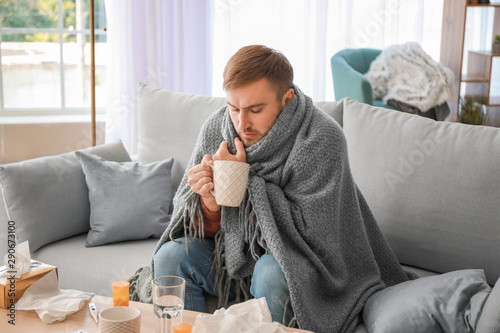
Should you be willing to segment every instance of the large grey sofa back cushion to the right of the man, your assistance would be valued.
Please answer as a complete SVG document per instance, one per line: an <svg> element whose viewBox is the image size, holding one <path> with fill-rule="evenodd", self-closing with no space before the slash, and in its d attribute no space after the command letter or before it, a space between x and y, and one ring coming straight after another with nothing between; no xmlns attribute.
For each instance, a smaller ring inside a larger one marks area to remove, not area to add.
<svg viewBox="0 0 500 333"><path fill-rule="evenodd" d="M500 276L500 129L344 99L353 177L401 263Z"/></svg>

